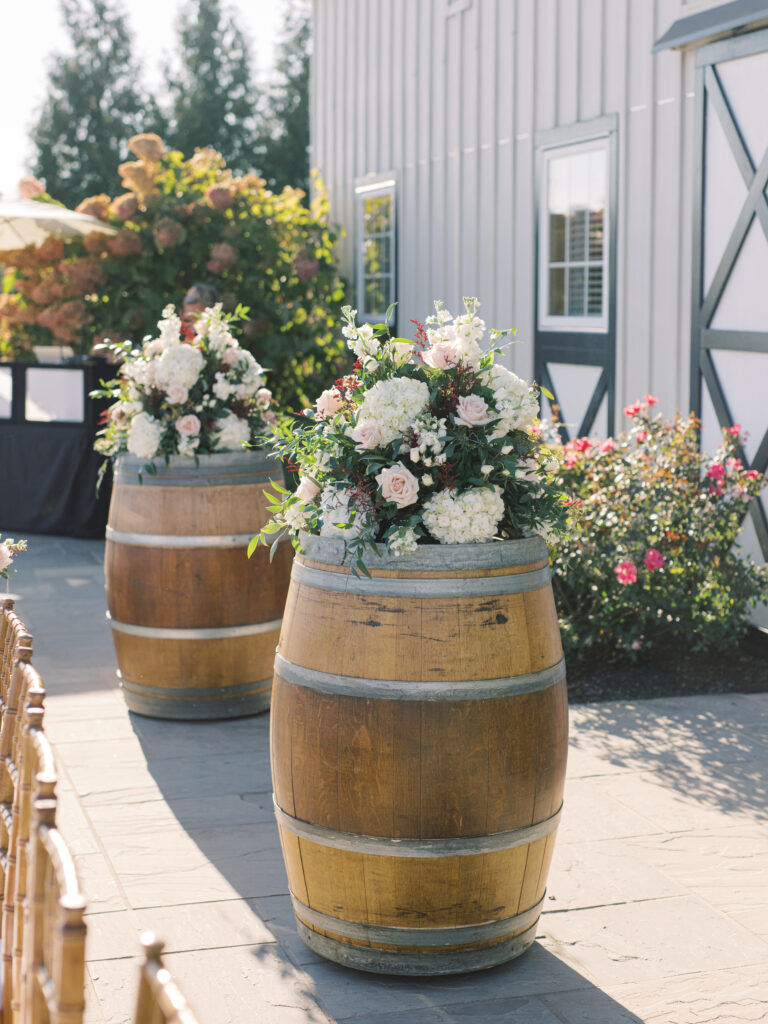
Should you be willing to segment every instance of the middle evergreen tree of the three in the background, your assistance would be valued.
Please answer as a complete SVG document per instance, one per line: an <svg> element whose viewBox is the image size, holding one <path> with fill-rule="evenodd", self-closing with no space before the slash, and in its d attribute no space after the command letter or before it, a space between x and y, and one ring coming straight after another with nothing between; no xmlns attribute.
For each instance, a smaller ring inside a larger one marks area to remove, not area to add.
<svg viewBox="0 0 768 1024"><path fill-rule="evenodd" d="M238 173L253 169L256 92L249 41L221 0L188 0L177 20L179 61L169 73L167 139L191 154L211 146Z"/></svg>

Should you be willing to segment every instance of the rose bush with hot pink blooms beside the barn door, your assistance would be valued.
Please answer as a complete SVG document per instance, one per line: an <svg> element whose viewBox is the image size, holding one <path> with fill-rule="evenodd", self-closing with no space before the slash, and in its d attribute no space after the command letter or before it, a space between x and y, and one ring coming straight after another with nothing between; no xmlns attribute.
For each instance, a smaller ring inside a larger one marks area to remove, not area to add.
<svg viewBox="0 0 768 1024"><path fill-rule="evenodd" d="M656 398L625 409L615 438L564 445L560 483L577 498L577 532L553 549L554 589L571 656L637 659L673 642L729 647L746 611L768 600L765 566L735 542L764 485L741 456L738 424L712 456L695 416L666 421Z"/></svg>

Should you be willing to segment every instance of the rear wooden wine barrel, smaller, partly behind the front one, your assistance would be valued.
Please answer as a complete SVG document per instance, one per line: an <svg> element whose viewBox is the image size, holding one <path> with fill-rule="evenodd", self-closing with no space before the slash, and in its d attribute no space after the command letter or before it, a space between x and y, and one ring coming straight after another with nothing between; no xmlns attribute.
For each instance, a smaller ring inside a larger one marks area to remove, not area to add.
<svg viewBox="0 0 768 1024"><path fill-rule="evenodd" d="M293 551L248 543L283 471L260 452L155 461L122 455L106 526L106 600L131 711L234 718L269 707ZM139 478L140 474L140 478Z"/></svg>

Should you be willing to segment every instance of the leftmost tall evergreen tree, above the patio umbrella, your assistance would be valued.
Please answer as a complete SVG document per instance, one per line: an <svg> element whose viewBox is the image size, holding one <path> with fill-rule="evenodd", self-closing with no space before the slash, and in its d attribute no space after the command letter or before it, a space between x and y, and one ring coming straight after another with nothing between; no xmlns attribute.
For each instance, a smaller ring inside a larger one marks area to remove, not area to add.
<svg viewBox="0 0 768 1024"><path fill-rule="evenodd" d="M121 0L60 0L72 53L56 55L48 97L32 130L33 172L54 199L76 206L120 186L116 167L137 132L163 132L138 66Z"/></svg>

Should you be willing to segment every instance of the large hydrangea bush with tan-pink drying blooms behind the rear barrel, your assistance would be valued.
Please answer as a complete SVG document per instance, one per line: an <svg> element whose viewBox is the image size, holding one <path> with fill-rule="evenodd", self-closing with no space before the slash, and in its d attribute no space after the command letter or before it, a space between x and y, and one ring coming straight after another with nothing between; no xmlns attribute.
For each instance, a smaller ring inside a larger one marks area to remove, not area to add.
<svg viewBox="0 0 768 1024"><path fill-rule="evenodd" d="M117 228L47 239L4 254L0 355L33 344L88 352L103 339L140 338L196 281L218 289L224 311L249 309L243 345L270 371L284 408L301 408L343 353L331 308L343 299L322 185L275 195L255 174L234 175L213 150L188 159L156 135L134 136L121 164L122 196L78 209Z"/></svg>

